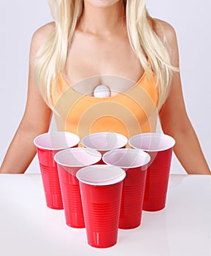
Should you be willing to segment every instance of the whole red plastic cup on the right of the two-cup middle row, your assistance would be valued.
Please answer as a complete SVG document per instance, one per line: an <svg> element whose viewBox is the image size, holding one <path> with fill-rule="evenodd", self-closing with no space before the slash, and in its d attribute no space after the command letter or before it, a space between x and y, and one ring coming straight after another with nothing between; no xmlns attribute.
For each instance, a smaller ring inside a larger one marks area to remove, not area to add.
<svg viewBox="0 0 211 256"><path fill-rule="evenodd" d="M107 165L115 165L126 170L119 228L139 227L142 219L147 164L150 162L150 156L140 149L122 148L105 153L103 161Z"/></svg>

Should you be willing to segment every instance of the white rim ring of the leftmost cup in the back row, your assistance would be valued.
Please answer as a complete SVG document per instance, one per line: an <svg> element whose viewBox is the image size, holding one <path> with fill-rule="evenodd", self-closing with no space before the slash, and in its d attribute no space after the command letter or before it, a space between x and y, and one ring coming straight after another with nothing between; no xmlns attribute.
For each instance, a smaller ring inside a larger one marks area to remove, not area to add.
<svg viewBox="0 0 211 256"><path fill-rule="evenodd" d="M70 143L69 145L66 146L58 146L58 147L46 147L46 146L40 146L38 141L40 138L45 138L49 137L50 135L62 135L64 134L65 136L72 136L74 139L73 143ZM77 144L80 142L80 137L76 135L73 132L61 132L61 131L54 131L54 132L45 132L40 135L38 135L36 138L34 138L34 145L37 146L37 148L40 149L45 149L45 150L50 150L50 151L56 151L56 150L61 150L61 149L66 149L66 148L71 148L74 146L77 146Z"/></svg>

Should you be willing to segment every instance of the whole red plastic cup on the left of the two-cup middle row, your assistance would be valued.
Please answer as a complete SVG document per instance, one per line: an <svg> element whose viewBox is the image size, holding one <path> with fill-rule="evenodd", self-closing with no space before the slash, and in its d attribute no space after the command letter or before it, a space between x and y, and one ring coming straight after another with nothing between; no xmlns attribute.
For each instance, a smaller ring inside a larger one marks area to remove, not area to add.
<svg viewBox="0 0 211 256"><path fill-rule="evenodd" d="M66 225L77 228L85 227L76 173L82 167L99 162L101 154L92 148L69 148L55 154L54 159L58 166Z"/></svg>

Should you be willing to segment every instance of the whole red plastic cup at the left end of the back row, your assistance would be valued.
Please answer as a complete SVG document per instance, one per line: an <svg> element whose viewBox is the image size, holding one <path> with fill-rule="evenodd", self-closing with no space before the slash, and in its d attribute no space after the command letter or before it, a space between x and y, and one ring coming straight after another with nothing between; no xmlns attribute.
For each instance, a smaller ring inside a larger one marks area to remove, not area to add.
<svg viewBox="0 0 211 256"><path fill-rule="evenodd" d="M45 200L49 208L63 209L58 170L53 157L55 153L64 148L77 146L79 141L80 138L71 132L47 132L34 139L34 144L37 146Z"/></svg>

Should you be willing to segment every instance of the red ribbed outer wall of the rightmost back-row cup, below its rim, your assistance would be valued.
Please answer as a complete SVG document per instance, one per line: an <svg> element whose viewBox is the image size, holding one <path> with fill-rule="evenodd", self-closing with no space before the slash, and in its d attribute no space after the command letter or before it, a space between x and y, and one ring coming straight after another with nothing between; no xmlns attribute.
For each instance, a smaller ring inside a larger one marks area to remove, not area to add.
<svg viewBox="0 0 211 256"><path fill-rule="evenodd" d="M166 206L171 159L172 148L153 153L153 161L147 169L143 210L160 211Z"/></svg>

